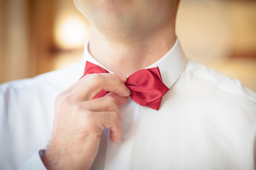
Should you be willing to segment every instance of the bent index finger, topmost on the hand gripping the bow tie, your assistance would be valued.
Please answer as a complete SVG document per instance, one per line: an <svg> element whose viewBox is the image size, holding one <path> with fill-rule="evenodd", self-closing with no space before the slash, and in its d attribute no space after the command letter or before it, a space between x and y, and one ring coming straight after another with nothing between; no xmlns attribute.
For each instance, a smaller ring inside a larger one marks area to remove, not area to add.
<svg viewBox="0 0 256 170"><path fill-rule="evenodd" d="M75 98L91 100L101 90L113 91L119 96L129 96L130 92L124 84L124 79L120 80L117 74L91 74L82 81L74 90Z"/></svg>

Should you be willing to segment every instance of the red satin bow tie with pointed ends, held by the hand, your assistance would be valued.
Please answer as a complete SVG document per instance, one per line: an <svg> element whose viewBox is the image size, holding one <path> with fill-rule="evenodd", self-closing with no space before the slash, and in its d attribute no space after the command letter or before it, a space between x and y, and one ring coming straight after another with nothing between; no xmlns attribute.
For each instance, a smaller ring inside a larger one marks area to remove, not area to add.
<svg viewBox="0 0 256 170"><path fill-rule="evenodd" d="M86 62L85 72L82 77L86 74L94 73L108 73L107 70L102 67ZM153 108L156 111L159 110L161 99L169 88L164 85L159 72L159 67L151 69L142 69L127 78L125 85L131 91L130 97L133 101L141 106ZM100 91L95 98L105 96L107 91Z"/></svg>

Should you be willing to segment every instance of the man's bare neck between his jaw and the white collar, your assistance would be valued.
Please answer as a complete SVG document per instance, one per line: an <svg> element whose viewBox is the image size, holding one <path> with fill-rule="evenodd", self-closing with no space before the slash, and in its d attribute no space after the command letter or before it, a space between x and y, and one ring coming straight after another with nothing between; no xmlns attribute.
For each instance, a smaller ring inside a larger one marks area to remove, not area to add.
<svg viewBox="0 0 256 170"><path fill-rule="evenodd" d="M110 71L129 76L158 61L176 42L175 30L170 28L131 37L109 38L91 26L89 52Z"/></svg>

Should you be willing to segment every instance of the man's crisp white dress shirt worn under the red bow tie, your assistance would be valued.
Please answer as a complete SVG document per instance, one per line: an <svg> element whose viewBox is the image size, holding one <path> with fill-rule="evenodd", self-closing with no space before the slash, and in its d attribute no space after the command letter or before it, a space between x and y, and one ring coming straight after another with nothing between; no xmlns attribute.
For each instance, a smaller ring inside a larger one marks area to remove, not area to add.
<svg viewBox="0 0 256 170"><path fill-rule="evenodd" d="M104 67L87 46L84 55ZM106 129L91 169L255 169L255 92L186 60L178 40L150 67L170 88L159 111L129 98L121 108L124 142L112 143ZM46 169L38 150L50 139L55 96L84 68L85 61L0 86L0 169Z"/></svg>

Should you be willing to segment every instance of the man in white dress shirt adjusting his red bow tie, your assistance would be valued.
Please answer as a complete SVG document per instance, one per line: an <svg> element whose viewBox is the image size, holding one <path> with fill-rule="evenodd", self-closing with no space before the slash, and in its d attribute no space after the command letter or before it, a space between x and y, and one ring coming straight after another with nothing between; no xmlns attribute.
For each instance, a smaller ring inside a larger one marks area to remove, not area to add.
<svg viewBox="0 0 256 170"><path fill-rule="evenodd" d="M91 23L85 75L76 64L1 86L3 167L36 152L21 169L255 169L256 95L186 60L178 3L75 0Z"/></svg>

